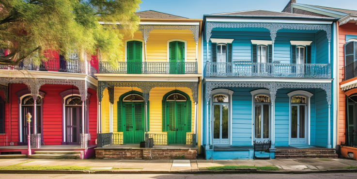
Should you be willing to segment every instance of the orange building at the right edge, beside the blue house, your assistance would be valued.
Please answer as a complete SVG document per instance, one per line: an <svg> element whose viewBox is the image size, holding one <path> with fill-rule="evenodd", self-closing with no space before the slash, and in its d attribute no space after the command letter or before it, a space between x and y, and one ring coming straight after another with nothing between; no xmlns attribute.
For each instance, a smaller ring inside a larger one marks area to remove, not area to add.
<svg viewBox="0 0 357 179"><path fill-rule="evenodd" d="M336 26L338 40L335 47L337 152L345 158L357 159L356 61L357 11L296 3L291 0L282 12L320 17L339 18Z"/></svg>

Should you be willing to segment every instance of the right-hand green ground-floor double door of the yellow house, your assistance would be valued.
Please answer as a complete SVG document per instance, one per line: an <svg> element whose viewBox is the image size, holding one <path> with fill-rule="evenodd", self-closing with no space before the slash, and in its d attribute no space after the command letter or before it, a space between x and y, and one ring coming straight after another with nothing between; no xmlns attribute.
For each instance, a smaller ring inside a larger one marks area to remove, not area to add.
<svg viewBox="0 0 357 179"><path fill-rule="evenodd" d="M186 144L186 102L168 101L168 144Z"/></svg>

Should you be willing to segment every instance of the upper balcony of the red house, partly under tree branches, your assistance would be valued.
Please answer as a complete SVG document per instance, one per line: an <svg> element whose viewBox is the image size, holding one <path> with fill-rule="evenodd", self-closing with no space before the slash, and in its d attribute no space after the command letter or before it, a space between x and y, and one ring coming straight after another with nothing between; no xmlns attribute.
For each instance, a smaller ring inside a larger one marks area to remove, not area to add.
<svg viewBox="0 0 357 179"><path fill-rule="evenodd" d="M97 70L90 65L88 66L88 75L94 76ZM42 62L41 65L35 65L31 59L25 59L17 66L0 65L0 69L17 69L17 70L31 70L31 71L55 71L55 72L67 72L67 73L86 73L86 64L78 59L66 60L63 58L51 58L47 62Z"/></svg>

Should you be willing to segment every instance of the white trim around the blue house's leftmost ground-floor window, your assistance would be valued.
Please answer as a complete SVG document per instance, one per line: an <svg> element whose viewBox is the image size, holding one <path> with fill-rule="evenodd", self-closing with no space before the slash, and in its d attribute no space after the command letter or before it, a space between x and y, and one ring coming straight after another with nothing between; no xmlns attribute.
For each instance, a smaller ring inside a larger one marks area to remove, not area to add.
<svg viewBox="0 0 357 179"><path fill-rule="evenodd" d="M211 96L210 96L210 98L211 99L213 99L212 97L214 96L214 95L217 95L217 94L224 94L224 95L228 95L228 98L229 98L229 102L228 102L228 104L229 104L229 117L228 117L228 120L229 120L229 126L228 126L228 134L229 134L229 136L228 136L228 140L229 140L229 142L228 142L228 144L229 145L232 145L232 121L233 121L233 119L232 119L232 95L233 95L233 93L234 93L234 91L232 91L232 90L229 90L229 89L224 89L224 88L219 88L219 89L214 89L214 90L212 90L211 91ZM213 125L213 123L212 123L212 118L213 118L213 108L212 108L212 106L213 106L213 100L210 100L211 101L211 110L210 110L210 125L211 125L211 132L210 132L210 144L213 144L213 137L212 137L212 131L213 131L213 127L212 127L212 125ZM208 117L208 116L207 116ZM222 145L226 145L226 144L222 144ZM217 145L217 146L219 146L219 145Z"/></svg>

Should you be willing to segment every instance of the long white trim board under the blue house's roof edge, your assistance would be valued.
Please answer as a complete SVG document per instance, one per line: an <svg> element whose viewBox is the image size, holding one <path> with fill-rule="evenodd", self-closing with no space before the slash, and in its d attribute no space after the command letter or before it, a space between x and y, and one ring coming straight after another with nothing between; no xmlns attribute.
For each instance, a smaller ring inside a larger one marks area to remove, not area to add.
<svg viewBox="0 0 357 179"><path fill-rule="evenodd" d="M272 17L273 18L273 17ZM244 18L244 17L235 17L235 18L228 18L228 17L207 17L207 22L262 22L262 23L291 23L291 24L332 24L331 21L321 21L316 17L316 20L295 20L295 19L268 19L268 18Z"/></svg>

